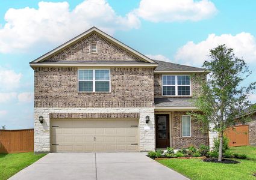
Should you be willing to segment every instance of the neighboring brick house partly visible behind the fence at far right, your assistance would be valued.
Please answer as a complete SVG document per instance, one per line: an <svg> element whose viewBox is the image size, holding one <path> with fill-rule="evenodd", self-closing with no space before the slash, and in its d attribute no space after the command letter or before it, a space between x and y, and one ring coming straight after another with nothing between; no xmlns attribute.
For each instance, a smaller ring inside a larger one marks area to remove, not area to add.
<svg viewBox="0 0 256 180"><path fill-rule="evenodd" d="M243 115L249 116L249 122L241 122L241 119L237 119L238 123L247 124L249 127L249 143L256 145L256 104L247 107L243 110Z"/></svg>

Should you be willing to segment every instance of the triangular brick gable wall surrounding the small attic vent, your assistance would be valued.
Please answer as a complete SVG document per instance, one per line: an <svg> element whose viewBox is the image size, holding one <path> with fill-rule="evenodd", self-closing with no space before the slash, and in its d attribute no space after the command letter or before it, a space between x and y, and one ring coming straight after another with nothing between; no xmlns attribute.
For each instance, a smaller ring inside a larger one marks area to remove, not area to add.
<svg viewBox="0 0 256 180"><path fill-rule="evenodd" d="M90 44L97 43L97 53L90 52ZM47 61L130 61L145 62L128 50L110 42L95 32L82 38L72 46L56 53L45 60Z"/></svg>

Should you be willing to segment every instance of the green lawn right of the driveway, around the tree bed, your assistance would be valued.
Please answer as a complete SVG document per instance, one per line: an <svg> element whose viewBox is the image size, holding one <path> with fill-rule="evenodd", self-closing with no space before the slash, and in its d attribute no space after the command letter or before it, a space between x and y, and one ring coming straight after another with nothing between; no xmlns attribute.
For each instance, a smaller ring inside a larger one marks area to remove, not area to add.
<svg viewBox="0 0 256 180"><path fill-rule="evenodd" d="M247 154L252 160L237 160L239 164L206 163L199 159L158 160L159 163L180 172L190 179L254 179L256 173L256 147L231 148L231 152Z"/></svg>

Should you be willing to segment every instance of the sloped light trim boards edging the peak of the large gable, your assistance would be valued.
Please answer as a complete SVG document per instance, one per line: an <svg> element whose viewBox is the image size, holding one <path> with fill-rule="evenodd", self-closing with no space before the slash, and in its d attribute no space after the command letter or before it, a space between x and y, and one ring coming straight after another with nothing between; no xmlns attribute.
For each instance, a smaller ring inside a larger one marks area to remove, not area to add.
<svg viewBox="0 0 256 180"><path fill-rule="evenodd" d="M80 40L81 38L85 37L86 35L89 35L92 32L97 32L99 35L102 35L105 38L108 38L108 40L112 41L113 43L118 44L119 46L122 46L123 48L125 48L126 50L129 50L131 53L133 53L136 56L139 56L140 58L144 59L147 62L151 62L154 63L154 61L152 61L151 59L149 59L147 56L142 55L141 53L137 52L136 50L132 49L129 46L126 46L125 44L121 43L120 41L116 40L115 38L111 37L110 35L106 34L105 32L99 30L96 27L92 27L89 30L83 32L82 34L76 36L75 38L73 38L72 40L67 41L66 43L62 44L61 46L56 47L55 49L51 50L50 52L46 53L45 55L40 56L39 58L35 59L32 62L39 62L39 61L43 61L46 58L48 58L49 56L53 55L54 53L59 52L60 50L62 50L64 47L69 46L70 44L75 43L76 41Z"/></svg>

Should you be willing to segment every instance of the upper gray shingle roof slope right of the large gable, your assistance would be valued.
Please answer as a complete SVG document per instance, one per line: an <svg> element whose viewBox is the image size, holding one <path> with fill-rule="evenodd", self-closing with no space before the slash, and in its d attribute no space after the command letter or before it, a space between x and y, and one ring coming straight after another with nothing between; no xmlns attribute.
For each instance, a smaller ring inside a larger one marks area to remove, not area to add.
<svg viewBox="0 0 256 180"><path fill-rule="evenodd" d="M157 62L158 66L155 68L155 70L204 70L203 68L198 68L198 67L191 67L188 65L181 65L181 64L175 64L172 62L166 62L166 61L158 61L154 60L153 61Z"/></svg>

